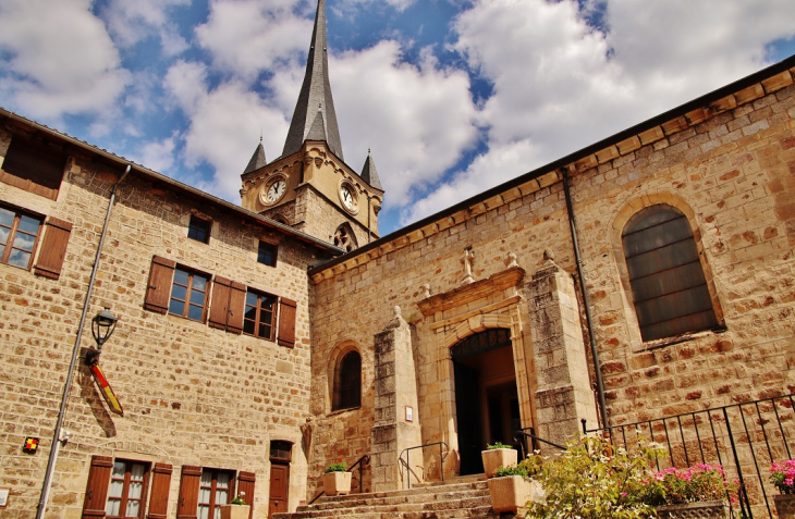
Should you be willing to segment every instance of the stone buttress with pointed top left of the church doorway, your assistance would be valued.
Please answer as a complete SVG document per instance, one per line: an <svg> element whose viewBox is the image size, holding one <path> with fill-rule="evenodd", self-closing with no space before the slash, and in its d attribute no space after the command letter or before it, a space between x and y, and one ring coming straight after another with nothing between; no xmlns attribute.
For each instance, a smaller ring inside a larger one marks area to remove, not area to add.
<svg viewBox="0 0 795 519"><path fill-rule="evenodd" d="M412 353L412 332L395 307L394 319L375 336L376 339L376 408L370 432L370 467L372 491L382 492L404 486L397 457L404 448L423 444L417 405L417 379ZM411 408L411 419L406 409ZM412 452L412 466L421 465L421 450ZM423 471L412 475L421 479ZM403 479L406 470L403 468Z"/></svg>

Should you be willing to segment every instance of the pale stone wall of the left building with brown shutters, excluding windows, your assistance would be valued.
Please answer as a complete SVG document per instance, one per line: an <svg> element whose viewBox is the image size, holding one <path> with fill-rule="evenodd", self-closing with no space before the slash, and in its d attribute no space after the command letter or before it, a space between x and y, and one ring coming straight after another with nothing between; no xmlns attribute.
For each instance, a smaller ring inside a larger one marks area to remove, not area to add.
<svg viewBox="0 0 795 519"><path fill-rule="evenodd" d="M0 150L9 137L0 131ZM0 184L3 201L74 225L59 280L0 265L0 487L12 489L2 512L8 518L35 515L109 193L121 173L88 153L73 153L57 201ZM207 245L187 238L193 213L213 221ZM299 425L310 400L306 268L318 257L294 238L242 220L136 173L121 185L88 318L103 306L120 318L101 366L125 413L108 412L81 362L64 422L71 438L56 468L48 517L80 517L90 457L103 455L173 465L170 517L182 465L255 472L255 517L264 518L271 440L294 442L291 506L304 498ZM260 237L279 242L276 268L256 261ZM155 255L296 300L295 348L145 310ZM81 355L94 346L89 330L81 346ZM36 455L22 453L26 436L41 438Z"/></svg>

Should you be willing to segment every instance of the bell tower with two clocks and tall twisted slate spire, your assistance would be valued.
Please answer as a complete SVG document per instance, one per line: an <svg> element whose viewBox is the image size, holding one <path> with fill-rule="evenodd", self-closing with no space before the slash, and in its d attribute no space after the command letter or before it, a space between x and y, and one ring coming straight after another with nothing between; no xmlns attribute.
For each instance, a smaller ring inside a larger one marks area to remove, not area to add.
<svg viewBox="0 0 795 519"><path fill-rule="evenodd" d="M241 176L242 205L348 251L377 239L383 187L368 152L360 172L342 153L329 81L326 1L315 28L281 157L268 163L261 139Z"/></svg>

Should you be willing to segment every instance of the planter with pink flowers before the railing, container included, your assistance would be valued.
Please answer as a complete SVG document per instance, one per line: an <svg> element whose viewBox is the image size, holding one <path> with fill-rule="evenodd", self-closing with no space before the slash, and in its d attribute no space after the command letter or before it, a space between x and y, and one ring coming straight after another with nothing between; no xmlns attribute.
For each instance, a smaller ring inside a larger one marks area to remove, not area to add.
<svg viewBox="0 0 795 519"><path fill-rule="evenodd" d="M720 465L696 465L686 469L675 467L655 472L646 481L644 502L655 506L658 517L730 517L729 499L737 490L726 481Z"/></svg>

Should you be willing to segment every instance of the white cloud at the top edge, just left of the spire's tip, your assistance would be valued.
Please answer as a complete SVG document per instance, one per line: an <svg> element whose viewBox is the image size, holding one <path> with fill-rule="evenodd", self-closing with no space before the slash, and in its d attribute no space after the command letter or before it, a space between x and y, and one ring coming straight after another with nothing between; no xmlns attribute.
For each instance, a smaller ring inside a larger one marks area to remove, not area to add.
<svg viewBox="0 0 795 519"><path fill-rule="evenodd" d="M294 13L298 1L213 0L196 37L215 66L250 79L308 51L313 22Z"/></svg>

